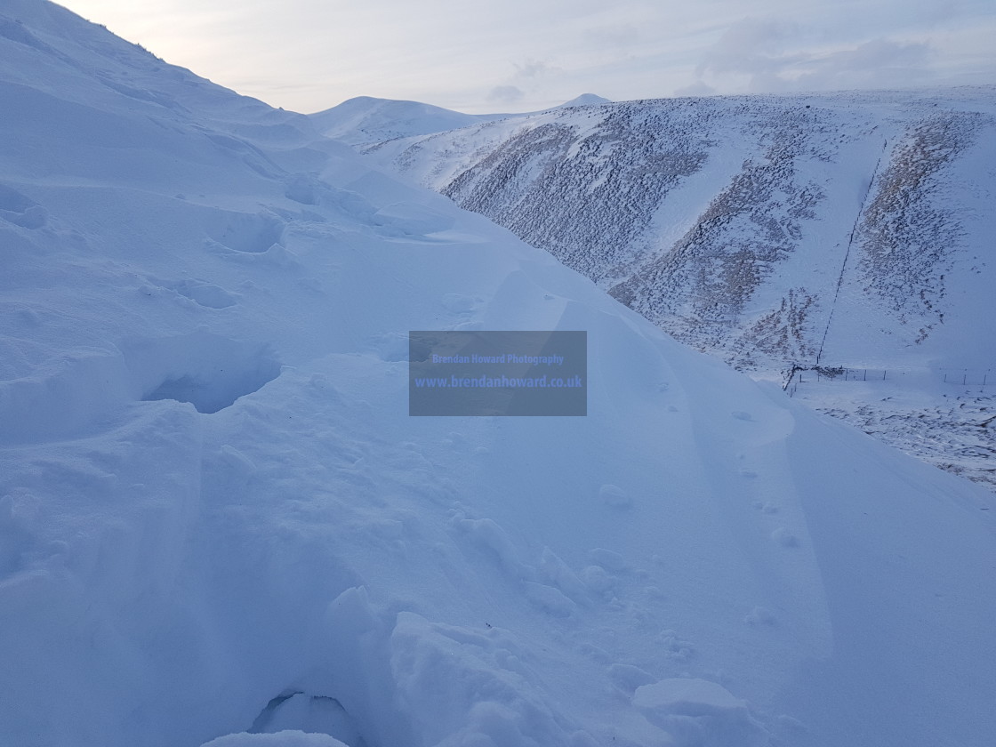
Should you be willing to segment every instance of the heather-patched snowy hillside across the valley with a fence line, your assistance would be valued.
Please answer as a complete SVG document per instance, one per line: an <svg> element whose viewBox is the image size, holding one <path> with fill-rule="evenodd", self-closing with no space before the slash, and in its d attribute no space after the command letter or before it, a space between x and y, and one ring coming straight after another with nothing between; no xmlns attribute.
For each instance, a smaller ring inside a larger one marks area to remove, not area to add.
<svg viewBox="0 0 996 747"><path fill-rule="evenodd" d="M996 485L984 426L981 448L953 431L924 450L872 424L876 402L922 393L913 379L928 401L890 417L970 429L992 406L996 89L609 104L367 150L738 369L884 372L867 399L798 395ZM940 386L955 369L977 385Z"/></svg>

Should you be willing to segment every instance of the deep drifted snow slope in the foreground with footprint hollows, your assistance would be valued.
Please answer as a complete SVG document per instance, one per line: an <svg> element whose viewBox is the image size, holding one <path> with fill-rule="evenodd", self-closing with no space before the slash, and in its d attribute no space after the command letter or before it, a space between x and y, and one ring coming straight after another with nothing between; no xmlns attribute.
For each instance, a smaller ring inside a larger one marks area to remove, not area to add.
<svg viewBox="0 0 996 747"><path fill-rule="evenodd" d="M51 3L0 113L0 744L991 744L988 492ZM588 416L408 417L431 329Z"/></svg>

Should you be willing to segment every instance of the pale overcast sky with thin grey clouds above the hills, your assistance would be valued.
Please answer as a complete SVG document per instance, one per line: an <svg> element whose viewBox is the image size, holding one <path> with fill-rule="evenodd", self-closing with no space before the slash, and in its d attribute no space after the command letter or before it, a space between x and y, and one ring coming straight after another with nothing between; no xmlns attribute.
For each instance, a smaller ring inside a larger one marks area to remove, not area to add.
<svg viewBox="0 0 996 747"><path fill-rule="evenodd" d="M167 62L310 114L355 96L475 114L996 83L996 0L64 0Z"/></svg>

